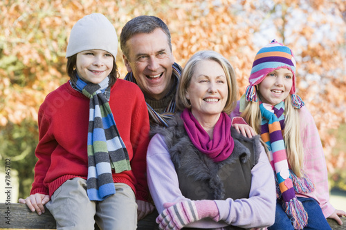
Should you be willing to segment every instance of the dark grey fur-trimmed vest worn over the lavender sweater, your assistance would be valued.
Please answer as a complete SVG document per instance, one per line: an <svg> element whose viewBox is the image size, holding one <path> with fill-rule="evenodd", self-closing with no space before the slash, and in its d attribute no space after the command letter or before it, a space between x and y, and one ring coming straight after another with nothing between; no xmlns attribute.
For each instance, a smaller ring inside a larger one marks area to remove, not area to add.
<svg viewBox="0 0 346 230"><path fill-rule="evenodd" d="M168 128L156 128L170 151L179 179L179 189L191 200L233 200L248 198L251 189L251 169L260 157L260 136L247 138L231 128L235 147L222 162L214 162L190 141L180 114ZM225 229L242 229L229 226ZM204 229L206 230L206 229Z"/></svg>

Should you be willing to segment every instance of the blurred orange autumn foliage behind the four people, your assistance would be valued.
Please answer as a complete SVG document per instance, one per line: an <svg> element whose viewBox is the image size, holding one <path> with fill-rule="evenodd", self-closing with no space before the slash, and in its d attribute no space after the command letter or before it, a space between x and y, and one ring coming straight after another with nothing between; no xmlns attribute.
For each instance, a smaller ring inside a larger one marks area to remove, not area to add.
<svg viewBox="0 0 346 230"><path fill-rule="evenodd" d="M0 160L10 157L18 171L19 197L29 194L33 181L39 105L69 79L69 33L93 12L106 15L118 36L133 17L160 17L170 28L176 62L184 66L199 50L220 52L235 67L241 94L259 48L271 39L289 46L330 184L346 190L345 0L1 0L0 12ZM120 46L116 59L125 77Z"/></svg>

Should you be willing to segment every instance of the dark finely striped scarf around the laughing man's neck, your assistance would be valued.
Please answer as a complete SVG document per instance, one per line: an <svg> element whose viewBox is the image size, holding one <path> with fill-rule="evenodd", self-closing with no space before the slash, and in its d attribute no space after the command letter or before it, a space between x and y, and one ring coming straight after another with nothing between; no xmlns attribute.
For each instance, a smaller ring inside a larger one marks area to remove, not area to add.
<svg viewBox="0 0 346 230"><path fill-rule="evenodd" d="M172 76L176 77L176 82L177 82L176 88L178 88L180 77L181 77L181 66L179 66L178 64L174 62L174 64L172 65L172 68L173 68ZM132 74L132 72L127 73L127 75L125 76L125 80L129 82L134 82L134 84L137 84L136 79L134 78L134 75ZM156 111L154 111L154 108L152 108L152 106L150 106L148 103L147 103L147 108L148 108L149 116L152 117L154 122L160 126L165 126L165 127L168 127L167 121L169 119L172 119L174 117L174 114L177 111L175 97L171 99L170 103L167 105L163 113L157 113Z"/></svg>

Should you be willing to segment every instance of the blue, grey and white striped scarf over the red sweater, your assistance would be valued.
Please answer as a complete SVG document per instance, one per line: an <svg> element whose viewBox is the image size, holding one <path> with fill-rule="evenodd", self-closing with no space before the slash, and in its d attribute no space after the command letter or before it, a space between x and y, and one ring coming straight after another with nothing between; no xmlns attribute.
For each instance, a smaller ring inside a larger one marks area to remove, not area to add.
<svg viewBox="0 0 346 230"><path fill-rule="evenodd" d="M87 193L90 200L104 200L116 193L111 169L116 173L131 170L129 155L109 106L109 77L100 84L86 84L75 76L77 82L71 81L73 88L90 98Z"/></svg>

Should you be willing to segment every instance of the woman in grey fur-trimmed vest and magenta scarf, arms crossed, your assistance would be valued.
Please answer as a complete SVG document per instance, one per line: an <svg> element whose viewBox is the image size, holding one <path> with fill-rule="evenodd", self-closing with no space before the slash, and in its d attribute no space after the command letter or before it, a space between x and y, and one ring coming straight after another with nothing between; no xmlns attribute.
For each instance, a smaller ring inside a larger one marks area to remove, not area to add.
<svg viewBox="0 0 346 230"><path fill-rule="evenodd" d="M275 183L259 137L231 128L235 71L222 55L197 52L181 76L183 111L156 128L147 177L160 229L242 229L273 224ZM203 219L203 220L202 220Z"/></svg>

